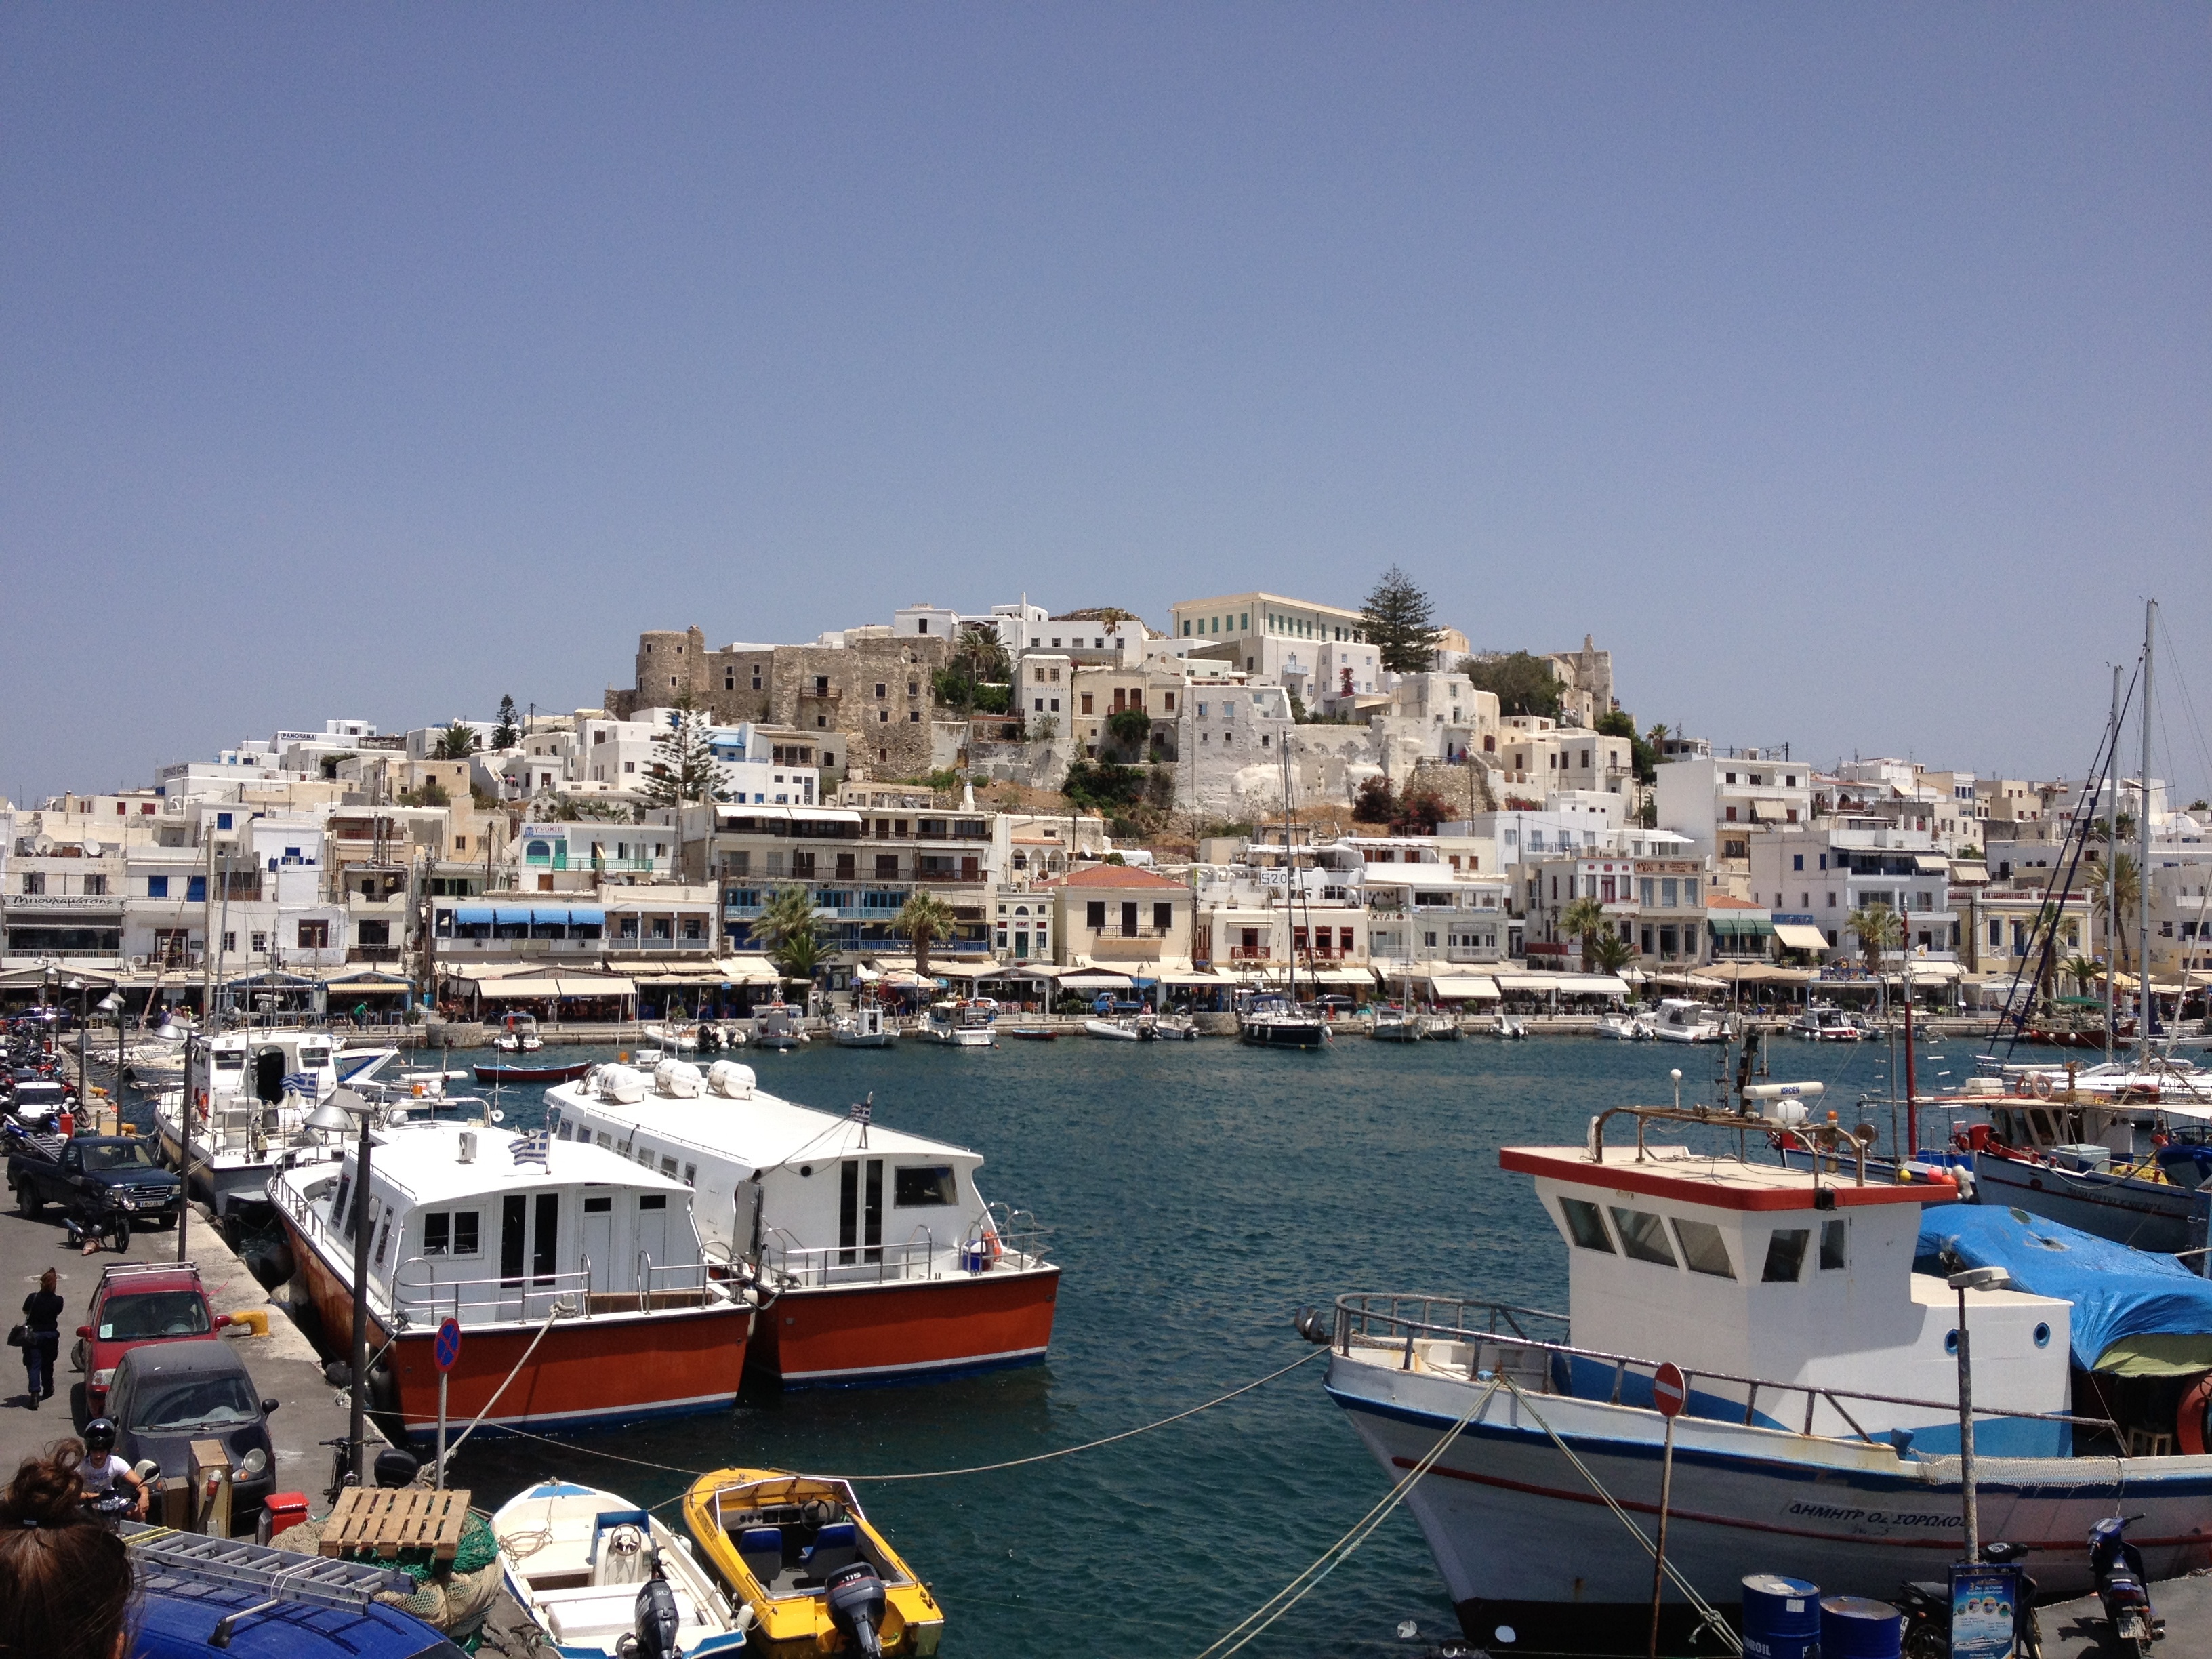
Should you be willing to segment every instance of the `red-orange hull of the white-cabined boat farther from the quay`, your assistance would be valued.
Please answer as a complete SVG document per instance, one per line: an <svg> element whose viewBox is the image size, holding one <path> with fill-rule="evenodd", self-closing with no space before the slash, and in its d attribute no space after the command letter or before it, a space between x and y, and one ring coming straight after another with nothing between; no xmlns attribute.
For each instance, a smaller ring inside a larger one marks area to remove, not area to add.
<svg viewBox="0 0 2212 1659"><path fill-rule="evenodd" d="M783 1383L874 1383L1042 1354L1060 1270L911 1285L787 1290L761 1312L752 1358Z"/></svg>

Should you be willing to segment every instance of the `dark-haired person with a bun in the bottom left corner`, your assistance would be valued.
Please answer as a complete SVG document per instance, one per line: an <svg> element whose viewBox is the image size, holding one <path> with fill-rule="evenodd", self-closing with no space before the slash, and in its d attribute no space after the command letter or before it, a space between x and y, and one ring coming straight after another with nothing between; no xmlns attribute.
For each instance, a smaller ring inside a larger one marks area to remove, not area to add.
<svg viewBox="0 0 2212 1659"><path fill-rule="evenodd" d="M84 1447L24 1458L0 1495L0 1655L122 1659L131 1641L131 1562L113 1528L84 1513Z"/></svg>

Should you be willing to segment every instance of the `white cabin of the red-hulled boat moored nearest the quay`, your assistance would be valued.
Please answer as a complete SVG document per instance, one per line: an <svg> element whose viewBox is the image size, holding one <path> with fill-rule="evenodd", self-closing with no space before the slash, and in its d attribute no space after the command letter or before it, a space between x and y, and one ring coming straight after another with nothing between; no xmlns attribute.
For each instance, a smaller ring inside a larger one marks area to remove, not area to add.
<svg viewBox="0 0 2212 1659"><path fill-rule="evenodd" d="M376 1133L365 1210L354 1168L347 1148L290 1179L347 1272L354 1228L372 1228L369 1305L409 1323L542 1321L584 1292L588 1312L661 1307L703 1287L690 1188L597 1146L400 1124Z"/></svg>

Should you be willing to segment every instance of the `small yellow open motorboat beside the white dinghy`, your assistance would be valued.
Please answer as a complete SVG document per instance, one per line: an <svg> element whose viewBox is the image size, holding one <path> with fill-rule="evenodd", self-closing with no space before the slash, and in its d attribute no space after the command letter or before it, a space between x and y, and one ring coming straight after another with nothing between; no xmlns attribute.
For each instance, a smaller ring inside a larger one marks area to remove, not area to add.
<svg viewBox="0 0 2212 1659"><path fill-rule="evenodd" d="M752 1608L745 1652L933 1655L945 1608L869 1526L843 1480L717 1469L684 1495L684 1524Z"/></svg>

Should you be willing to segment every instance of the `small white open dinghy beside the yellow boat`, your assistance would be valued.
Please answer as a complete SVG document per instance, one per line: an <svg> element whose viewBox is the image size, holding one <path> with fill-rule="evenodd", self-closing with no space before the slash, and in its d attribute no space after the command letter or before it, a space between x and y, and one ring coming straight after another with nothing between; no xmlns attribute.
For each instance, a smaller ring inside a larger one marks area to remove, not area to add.
<svg viewBox="0 0 2212 1659"><path fill-rule="evenodd" d="M688 1540L626 1498L540 1480L500 1506L491 1533L507 1593L562 1659L613 1659L650 1617L655 1579L675 1601L675 1639L686 1659L745 1648L752 1610L732 1613Z"/></svg>

